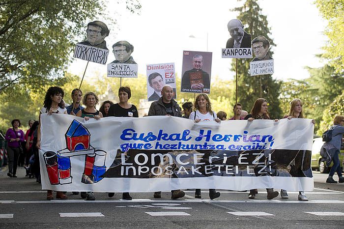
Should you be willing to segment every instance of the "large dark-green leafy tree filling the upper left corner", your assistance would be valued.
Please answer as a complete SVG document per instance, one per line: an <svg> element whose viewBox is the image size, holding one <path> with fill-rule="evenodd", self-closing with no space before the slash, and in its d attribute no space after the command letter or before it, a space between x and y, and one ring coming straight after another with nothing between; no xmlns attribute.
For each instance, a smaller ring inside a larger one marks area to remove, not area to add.
<svg viewBox="0 0 344 229"><path fill-rule="evenodd" d="M0 93L63 77L86 20L107 20L105 5L104 0L1 0ZM126 5L131 11L141 7L137 0Z"/></svg>

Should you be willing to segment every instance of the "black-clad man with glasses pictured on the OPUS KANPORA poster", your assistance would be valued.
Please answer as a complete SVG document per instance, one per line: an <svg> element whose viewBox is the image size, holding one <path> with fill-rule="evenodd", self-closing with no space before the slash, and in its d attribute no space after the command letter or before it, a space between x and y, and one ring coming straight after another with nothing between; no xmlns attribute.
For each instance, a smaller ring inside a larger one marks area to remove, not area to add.
<svg viewBox="0 0 344 229"><path fill-rule="evenodd" d="M192 63L194 68L186 71L181 79L181 91L209 93L209 74L201 69L203 66L203 57L201 55L195 55L192 58Z"/></svg>

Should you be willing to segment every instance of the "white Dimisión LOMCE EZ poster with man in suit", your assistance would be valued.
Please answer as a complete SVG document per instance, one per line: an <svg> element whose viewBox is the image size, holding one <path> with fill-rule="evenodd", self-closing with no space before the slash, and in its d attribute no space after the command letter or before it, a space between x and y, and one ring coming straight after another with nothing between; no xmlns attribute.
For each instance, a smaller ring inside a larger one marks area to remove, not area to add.
<svg viewBox="0 0 344 229"><path fill-rule="evenodd" d="M161 90L169 85L173 88L172 99L177 98L174 63L147 64L147 99L156 101L161 97Z"/></svg>

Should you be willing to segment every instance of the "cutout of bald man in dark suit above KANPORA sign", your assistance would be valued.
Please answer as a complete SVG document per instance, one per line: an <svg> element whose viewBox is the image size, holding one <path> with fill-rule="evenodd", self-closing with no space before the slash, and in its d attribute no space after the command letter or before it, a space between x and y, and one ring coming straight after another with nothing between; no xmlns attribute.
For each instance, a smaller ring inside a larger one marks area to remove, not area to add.
<svg viewBox="0 0 344 229"><path fill-rule="evenodd" d="M230 20L227 27L231 38L227 41L226 48L251 48L251 35L244 31L240 20Z"/></svg>

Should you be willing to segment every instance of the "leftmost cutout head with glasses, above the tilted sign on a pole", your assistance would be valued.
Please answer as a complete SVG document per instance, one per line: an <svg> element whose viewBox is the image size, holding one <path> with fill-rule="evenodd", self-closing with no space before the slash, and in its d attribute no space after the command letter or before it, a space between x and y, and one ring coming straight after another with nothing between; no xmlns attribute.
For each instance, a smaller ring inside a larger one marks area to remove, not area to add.
<svg viewBox="0 0 344 229"><path fill-rule="evenodd" d="M94 21L87 24L87 40L78 44L92 46L100 49L106 49L106 41L104 40L110 33L105 23Z"/></svg>

